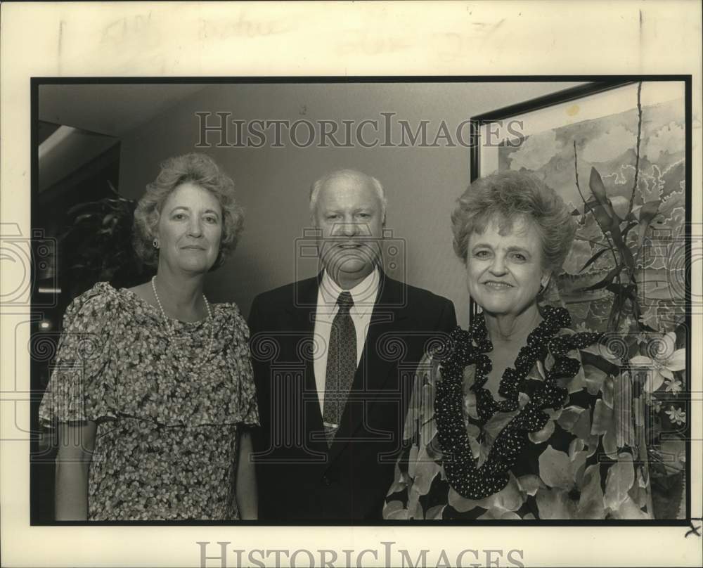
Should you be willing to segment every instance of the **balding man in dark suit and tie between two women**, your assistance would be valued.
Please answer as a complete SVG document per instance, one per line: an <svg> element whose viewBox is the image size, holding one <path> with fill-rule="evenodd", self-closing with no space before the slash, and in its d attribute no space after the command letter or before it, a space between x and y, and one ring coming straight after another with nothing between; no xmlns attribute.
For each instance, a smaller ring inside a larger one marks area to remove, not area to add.
<svg viewBox="0 0 703 568"><path fill-rule="evenodd" d="M323 270L254 299L259 519L381 519L413 373L456 326L453 304L380 267L385 197L341 170L310 195Z"/></svg>

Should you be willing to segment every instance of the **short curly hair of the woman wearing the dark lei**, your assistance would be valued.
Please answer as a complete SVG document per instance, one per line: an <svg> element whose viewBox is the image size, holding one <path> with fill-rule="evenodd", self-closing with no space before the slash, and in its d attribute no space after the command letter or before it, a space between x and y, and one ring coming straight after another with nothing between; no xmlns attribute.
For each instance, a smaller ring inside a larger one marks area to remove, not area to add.
<svg viewBox="0 0 703 568"><path fill-rule="evenodd" d="M483 233L491 219L509 231L519 217L531 220L541 236L543 269L560 269L574 242L576 221L564 200L527 172L496 172L471 183L451 214L454 252L466 262L471 233Z"/></svg>

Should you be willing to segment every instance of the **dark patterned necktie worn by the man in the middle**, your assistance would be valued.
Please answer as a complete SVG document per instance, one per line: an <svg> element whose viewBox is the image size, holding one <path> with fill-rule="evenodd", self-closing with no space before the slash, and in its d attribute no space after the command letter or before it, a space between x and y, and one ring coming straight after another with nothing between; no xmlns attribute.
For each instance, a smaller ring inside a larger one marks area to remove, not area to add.
<svg viewBox="0 0 703 568"><path fill-rule="evenodd" d="M337 298L337 305L340 310L337 311L330 330L322 413L329 446L332 445L335 432L340 427L344 405L347 404L349 389L352 388L356 374L356 328L349 314L349 309L354 305L352 295L342 292Z"/></svg>

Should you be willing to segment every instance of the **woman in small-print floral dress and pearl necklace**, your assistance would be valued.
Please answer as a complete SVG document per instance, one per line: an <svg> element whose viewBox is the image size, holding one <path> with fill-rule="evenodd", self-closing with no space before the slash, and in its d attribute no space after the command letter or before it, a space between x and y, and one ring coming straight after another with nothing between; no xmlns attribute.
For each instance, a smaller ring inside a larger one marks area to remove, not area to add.
<svg viewBox="0 0 703 568"><path fill-rule="evenodd" d="M156 276L67 309L39 410L59 430L56 519L257 517L249 331L202 293L242 228L233 189L205 155L167 160L135 212Z"/></svg>

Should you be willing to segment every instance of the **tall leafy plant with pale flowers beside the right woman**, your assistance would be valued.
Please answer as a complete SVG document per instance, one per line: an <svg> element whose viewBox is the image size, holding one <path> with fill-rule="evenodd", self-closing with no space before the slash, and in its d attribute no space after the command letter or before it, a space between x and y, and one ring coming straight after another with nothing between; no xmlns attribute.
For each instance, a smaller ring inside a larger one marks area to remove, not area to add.
<svg viewBox="0 0 703 568"><path fill-rule="evenodd" d="M596 262L602 265L602 257L612 257L612 265L605 276L598 282L580 288L579 292L607 290L612 292L612 306L607 318L607 329L614 332L611 344L617 344L617 361L623 376L634 379L633 402L647 410L647 432L644 438L648 444L650 475L653 478L671 479L675 476L683 483L683 462L685 460L684 440L687 430L686 420L688 389L686 388L685 370L685 334L683 324L679 324L669 333L658 330L645 323L641 300L643 291L638 281L645 270L643 247L647 231L660 214L662 200L654 199L634 205L638 190L640 138L642 134L642 84L637 89L638 128L635 154L634 183L629 200L621 195L611 197L603 182L600 172L591 168L588 188L591 195L581 191L578 170L578 155L574 141L574 170L576 188L583 201L583 212L578 209L574 215L579 218L579 225L586 226L595 220L600 230L600 238L582 238L595 251L583 264L581 273ZM632 233L636 231L636 233ZM635 236L636 235L636 236ZM652 320L648 320L652 322ZM643 418L640 418L645 422ZM645 427L641 425L639 427ZM653 483L654 505L657 517L675 517L676 508L661 510L664 499L657 499L657 486L669 487L672 482ZM681 489L681 488L679 488ZM675 492L676 493L676 492ZM681 495L681 491L678 491Z"/></svg>

